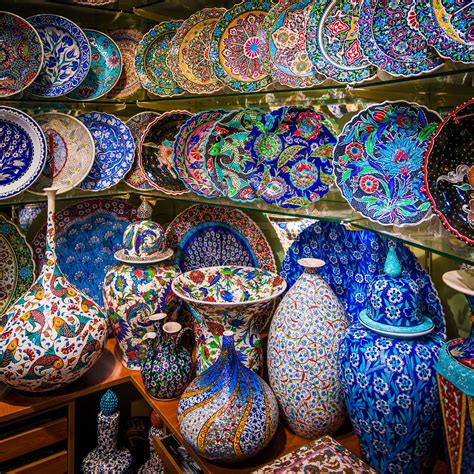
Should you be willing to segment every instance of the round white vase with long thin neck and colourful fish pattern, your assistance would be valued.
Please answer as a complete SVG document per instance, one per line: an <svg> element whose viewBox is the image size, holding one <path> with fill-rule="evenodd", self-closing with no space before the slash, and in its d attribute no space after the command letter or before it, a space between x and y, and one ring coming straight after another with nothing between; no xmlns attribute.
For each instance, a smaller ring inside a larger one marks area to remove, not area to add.
<svg viewBox="0 0 474 474"><path fill-rule="evenodd" d="M74 382L99 359L107 337L100 307L64 277L54 241L54 200L48 196L46 262L31 288L10 308L0 339L0 381L43 392Z"/></svg>

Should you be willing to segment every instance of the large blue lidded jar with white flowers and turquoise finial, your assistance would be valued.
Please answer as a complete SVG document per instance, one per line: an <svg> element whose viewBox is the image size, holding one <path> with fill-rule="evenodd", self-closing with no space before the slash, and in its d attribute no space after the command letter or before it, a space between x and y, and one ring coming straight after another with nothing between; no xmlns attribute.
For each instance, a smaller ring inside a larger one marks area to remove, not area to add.
<svg viewBox="0 0 474 474"><path fill-rule="evenodd" d="M424 472L440 428L434 367L444 336L424 315L418 285L403 275L393 247L367 301L339 353L349 416L374 469Z"/></svg>

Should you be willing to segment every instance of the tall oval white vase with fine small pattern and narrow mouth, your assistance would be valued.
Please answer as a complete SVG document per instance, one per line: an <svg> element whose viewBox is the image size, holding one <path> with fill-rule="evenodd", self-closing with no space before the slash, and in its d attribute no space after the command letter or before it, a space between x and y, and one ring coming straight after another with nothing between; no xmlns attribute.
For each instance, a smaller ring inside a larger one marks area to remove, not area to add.
<svg viewBox="0 0 474 474"><path fill-rule="evenodd" d="M268 376L290 429L305 438L335 432L346 410L338 369L347 327L344 309L318 275L322 260L303 258L304 272L278 306L268 334Z"/></svg>

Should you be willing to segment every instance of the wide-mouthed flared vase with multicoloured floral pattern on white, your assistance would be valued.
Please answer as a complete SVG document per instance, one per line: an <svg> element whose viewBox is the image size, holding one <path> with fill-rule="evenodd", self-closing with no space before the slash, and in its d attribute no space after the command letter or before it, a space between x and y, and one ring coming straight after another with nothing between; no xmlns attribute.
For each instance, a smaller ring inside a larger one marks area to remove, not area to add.
<svg viewBox="0 0 474 474"><path fill-rule="evenodd" d="M283 278L261 268L207 267L178 275L172 289L194 317L198 374L219 357L225 330L234 333L240 360L255 372L261 371L262 341L254 318L268 314L273 300L286 289Z"/></svg>

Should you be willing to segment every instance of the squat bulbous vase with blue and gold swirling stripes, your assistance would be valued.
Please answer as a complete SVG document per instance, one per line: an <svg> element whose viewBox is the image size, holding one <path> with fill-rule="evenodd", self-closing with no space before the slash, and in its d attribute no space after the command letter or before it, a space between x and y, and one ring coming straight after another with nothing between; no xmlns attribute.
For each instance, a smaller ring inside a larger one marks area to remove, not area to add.
<svg viewBox="0 0 474 474"><path fill-rule="evenodd" d="M215 461L236 462L254 456L275 434L275 395L239 360L231 331L224 331L214 365L181 396L178 423L186 443L200 456Z"/></svg>

